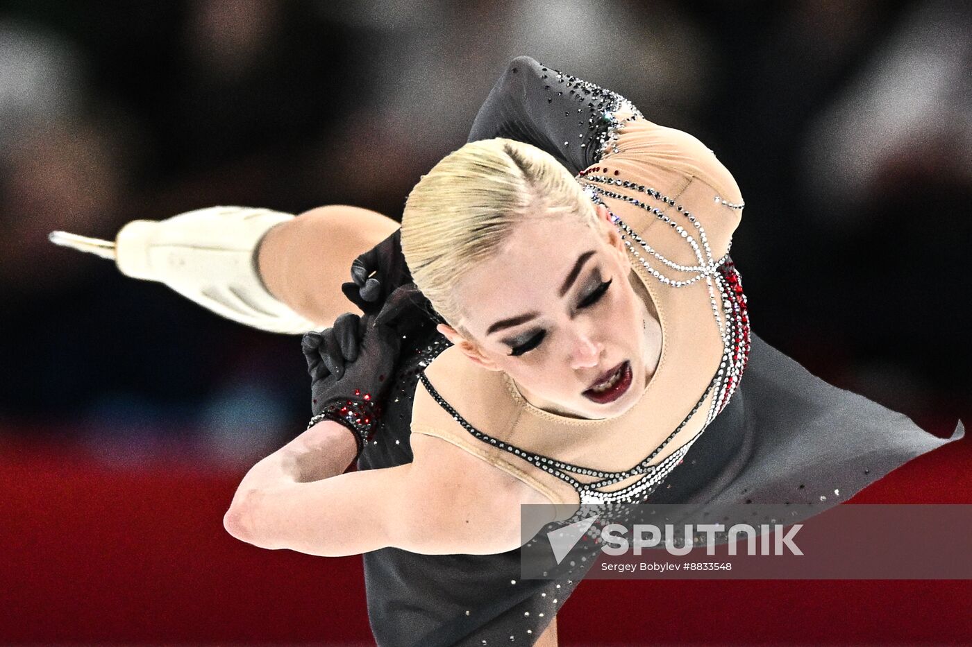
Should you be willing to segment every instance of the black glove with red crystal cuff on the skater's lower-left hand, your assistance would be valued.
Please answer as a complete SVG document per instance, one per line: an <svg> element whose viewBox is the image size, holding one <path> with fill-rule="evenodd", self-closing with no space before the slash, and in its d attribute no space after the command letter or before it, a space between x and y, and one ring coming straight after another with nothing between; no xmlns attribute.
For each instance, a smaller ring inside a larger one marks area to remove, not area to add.
<svg viewBox="0 0 972 647"><path fill-rule="evenodd" d="M307 428L325 419L347 426L360 455L393 382L398 331L375 316L344 313L332 327L304 334L300 346L311 377L314 417Z"/></svg>

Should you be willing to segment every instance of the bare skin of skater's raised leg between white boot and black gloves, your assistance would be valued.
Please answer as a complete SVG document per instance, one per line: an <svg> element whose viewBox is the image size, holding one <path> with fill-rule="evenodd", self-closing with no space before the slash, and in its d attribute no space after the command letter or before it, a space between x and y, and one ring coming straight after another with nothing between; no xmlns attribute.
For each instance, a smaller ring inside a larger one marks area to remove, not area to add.
<svg viewBox="0 0 972 647"><path fill-rule="evenodd" d="M357 312L341 284L352 261L385 240L399 223L347 205L320 207L271 228L257 258L263 284L277 299L321 327Z"/></svg>

